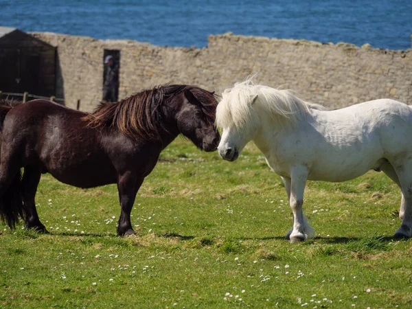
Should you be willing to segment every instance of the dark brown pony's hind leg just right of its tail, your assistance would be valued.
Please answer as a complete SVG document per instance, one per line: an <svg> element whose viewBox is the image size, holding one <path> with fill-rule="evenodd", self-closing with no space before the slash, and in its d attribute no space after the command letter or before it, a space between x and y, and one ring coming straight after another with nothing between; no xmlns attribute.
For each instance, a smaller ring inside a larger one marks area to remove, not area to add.
<svg viewBox="0 0 412 309"><path fill-rule="evenodd" d="M36 202L34 197L36 196L38 182L40 181L41 172L27 167L23 173L23 208L25 211L25 227L27 229L34 229L42 233L49 233L45 226L38 218L36 210Z"/></svg>

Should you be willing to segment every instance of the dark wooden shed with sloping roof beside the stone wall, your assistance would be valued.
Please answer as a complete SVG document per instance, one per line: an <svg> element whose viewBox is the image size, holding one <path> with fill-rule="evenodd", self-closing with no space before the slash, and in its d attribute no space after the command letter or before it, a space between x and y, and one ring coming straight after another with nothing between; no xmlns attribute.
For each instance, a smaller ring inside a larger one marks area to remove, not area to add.
<svg viewBox="0 0 412 309"><path fill-rule="evenodd" d="M11 27L0 27L0 91L56 95L56 47Z"/></svg>

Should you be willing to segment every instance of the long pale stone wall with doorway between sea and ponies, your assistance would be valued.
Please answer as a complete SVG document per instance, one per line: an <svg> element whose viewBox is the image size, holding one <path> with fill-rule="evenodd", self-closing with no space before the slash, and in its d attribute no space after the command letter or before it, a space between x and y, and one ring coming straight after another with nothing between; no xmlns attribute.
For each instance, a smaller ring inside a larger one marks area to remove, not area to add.
<svg viewBox="0 0 412 309"><path fill-rule="evenodd" d="M119 98L172 82L220 94L258 73L255 82L293 89L309 102L339 108L393 98L412 104L412 52L310 41L222 34L203 49L159 47L137 41L101 41L39 32L58 47L58 94L69 107L93 110L102 100L104 49L120 50Z"/></svg>

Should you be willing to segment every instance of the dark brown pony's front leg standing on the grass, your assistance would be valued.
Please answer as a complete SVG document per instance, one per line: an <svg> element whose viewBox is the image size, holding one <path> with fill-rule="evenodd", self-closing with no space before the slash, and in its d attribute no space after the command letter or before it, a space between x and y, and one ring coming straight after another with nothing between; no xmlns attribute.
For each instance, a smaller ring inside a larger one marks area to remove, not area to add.
<svg viewBox="0 0 412 309"><path fill-rule="evenodd" d="M117 235L119 236L135 234L132 223L130 222L130 212L135 203L137 191L143 181L144 177L139 178L130 171L119 176L117 190L119 190L120 206L122 207L122 213L120 214L117 226Z"/></svg>

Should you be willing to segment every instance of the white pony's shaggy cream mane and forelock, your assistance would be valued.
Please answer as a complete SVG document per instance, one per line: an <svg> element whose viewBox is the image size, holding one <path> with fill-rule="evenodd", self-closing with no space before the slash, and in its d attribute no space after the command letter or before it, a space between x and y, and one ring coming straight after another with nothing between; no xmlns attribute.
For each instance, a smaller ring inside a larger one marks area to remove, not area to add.
<svg viewBox="0 0 412 309"><path fill-rule="evenodd" d="M271 115L279 126L294 126L306 118L310 108L325 109L319 104L304 102L293 91L255 84L252 79L237 82L233 88L222 93L222 101L216 111L217 126L227 128L234 124L242 130L245 126L257 124L257 115L253 113L257 107ZM256 95L258 97L252 102Z"/></svg>

